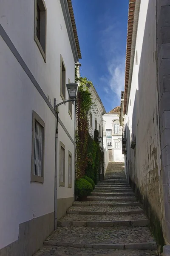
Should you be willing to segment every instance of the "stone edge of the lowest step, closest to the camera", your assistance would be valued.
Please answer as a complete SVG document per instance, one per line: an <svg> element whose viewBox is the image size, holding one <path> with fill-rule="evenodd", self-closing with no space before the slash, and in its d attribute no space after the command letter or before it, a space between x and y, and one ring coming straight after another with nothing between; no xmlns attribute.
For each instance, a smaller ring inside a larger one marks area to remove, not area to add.
<svg viewBox="0 0 170 256"><path fill-rule="evenodd" d="M134 244L78 244L59 241L44 241L44 245L87 248L87 249L117 249L117 250L156 250L156 242L134 243Z"/></svg>

